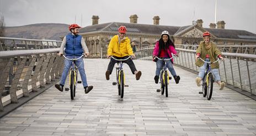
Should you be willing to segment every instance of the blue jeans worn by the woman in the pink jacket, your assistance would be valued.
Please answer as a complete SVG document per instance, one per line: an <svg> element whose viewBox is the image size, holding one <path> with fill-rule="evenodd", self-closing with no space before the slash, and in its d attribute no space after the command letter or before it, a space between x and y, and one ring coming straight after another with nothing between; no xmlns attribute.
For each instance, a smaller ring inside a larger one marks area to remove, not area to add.
<svg viewBox="0 0 256 136"><path fill-rule="evenodd" d="M166 61L166 67L169 69L170 73L173 76L177 75L174 68L173 68L173 63L170 60ZM157 59L157 69L156 69L156 75L157 76L159 76L160 71L161 71L162 68L163 68L163 61L160 60L160 59Z"/></svg>

